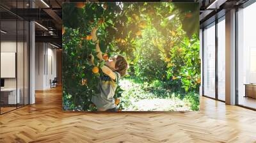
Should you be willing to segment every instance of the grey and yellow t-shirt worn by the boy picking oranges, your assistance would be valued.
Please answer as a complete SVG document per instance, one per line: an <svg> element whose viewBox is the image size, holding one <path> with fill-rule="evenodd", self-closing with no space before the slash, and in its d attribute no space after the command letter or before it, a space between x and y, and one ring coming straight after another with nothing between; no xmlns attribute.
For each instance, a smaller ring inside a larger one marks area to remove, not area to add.
<svg viewBox="0 0 256 143"><path fill-rule="evenodd" d="M121 75L118 72L114 73L116 75L115 80L111 79L108 75L100 77L100 82L98 84L100 93L92 96L92 102L98 109L108 110L116 107L113 96L115 95Z"/></svg>

